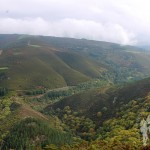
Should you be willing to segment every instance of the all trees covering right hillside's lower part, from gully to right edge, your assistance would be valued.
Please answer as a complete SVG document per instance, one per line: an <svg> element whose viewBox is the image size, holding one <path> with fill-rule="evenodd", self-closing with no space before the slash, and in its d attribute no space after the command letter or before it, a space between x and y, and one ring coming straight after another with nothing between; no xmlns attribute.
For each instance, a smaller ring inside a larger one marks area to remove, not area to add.
<svg viewBox="0 0 150 150"><path fill-rule="evenodd" d="M149 100L150 95L123 104L116 111L115 117L104 121L97 128L91 119L80 116L79 112L74 112L69 106L53 110L54 115L66 125L66 131L81 138L81 142L62 146L62 150L148 150L149 140L148 145L143 147L140 122L150 115ZM100 117L99 114L97 117Z"/></svg>

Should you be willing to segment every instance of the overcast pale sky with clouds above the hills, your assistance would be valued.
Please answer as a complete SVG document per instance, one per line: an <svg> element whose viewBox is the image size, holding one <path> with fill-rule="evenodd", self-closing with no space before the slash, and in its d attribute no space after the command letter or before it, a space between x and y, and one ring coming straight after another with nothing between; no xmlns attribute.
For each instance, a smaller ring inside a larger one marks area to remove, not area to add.
<svg viewBox="0 0 150 150"><path fill-rule="evenodd" d="M150 45L150 1L0 0L0 34Z"/></svg>

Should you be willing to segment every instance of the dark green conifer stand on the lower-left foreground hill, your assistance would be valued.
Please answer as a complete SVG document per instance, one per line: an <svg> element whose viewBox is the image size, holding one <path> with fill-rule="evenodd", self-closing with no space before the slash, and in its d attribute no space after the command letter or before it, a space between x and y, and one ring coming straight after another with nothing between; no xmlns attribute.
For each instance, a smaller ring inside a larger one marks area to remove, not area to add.
<svg viewBox="0 0 150 150"><path fill-rule="evenodd" d="M46 145L61 146L72 143L69 133L54 129L48 123L26 118L18 122L4 139L3 150L35 150L43 149Z"/></svg>

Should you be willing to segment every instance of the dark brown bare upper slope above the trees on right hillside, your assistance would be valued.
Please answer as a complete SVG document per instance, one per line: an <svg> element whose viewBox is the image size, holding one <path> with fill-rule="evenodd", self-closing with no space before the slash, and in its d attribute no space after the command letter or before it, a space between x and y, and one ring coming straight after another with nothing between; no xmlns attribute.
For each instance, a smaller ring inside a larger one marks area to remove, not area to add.
<svg viewBox="0 0 150 150"><path fill-rule="evenodd" d="M88 90L70 97L66 97L46 108L63 109L69 106L73 111L80 112L101 124L104 120L114 117L116 110L133 99L145 97L150 92L150 78L124 86L103 87ZM97 113L102 112L99 120Z"/></svg>

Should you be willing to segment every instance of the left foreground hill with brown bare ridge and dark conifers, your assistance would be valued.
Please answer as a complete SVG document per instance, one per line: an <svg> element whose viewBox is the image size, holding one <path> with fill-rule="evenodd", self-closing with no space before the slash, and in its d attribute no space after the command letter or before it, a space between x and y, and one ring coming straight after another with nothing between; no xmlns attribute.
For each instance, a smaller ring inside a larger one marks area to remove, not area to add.
<svg viewBox="0 0 150 150"><path fill-rule="evenodd" d="M64 132L57 117L33 110L15 93L0 97L0 148L40 149L72 144L73 136ZM54 145L54 146L53 146Z"/></svg>

